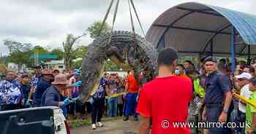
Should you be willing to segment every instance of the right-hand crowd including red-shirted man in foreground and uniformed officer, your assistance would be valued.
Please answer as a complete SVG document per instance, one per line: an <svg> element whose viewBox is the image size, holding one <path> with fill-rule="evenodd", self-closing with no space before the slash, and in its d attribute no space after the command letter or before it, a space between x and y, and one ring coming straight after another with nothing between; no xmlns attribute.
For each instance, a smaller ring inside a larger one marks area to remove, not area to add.
<svg viewBox="0 0 256 134"><path fill-rule="evenodd" d="M233 73L228 59L208 56L199 65L190 60L177 64L177 60L171 47L159 52L159 74L140 90L140 134L256 132L256 108L249 104L256 102L254 60L237 60ZM196 127L174 127L175 122L193 122Z"/></svg>

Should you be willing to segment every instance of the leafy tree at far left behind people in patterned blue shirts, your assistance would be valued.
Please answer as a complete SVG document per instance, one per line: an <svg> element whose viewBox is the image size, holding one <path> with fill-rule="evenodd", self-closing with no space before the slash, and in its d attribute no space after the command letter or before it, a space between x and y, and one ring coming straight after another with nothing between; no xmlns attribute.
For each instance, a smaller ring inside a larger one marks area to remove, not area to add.
<svg viewBox="0 0 256 134"><path fill-rule="evenodd" d="M31 50L31 44L20 43L12 41L11 39L4 39L4 45L9 49L8 60L12 63L18 65L18 71L20 71L21 66L29 63L29 52Z"/></svg>

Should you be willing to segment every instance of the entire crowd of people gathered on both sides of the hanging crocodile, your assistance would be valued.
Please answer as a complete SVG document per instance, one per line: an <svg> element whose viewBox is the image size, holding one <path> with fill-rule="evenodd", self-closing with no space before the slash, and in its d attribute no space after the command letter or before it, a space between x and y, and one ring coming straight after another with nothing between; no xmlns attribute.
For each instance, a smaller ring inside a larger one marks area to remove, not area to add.
<svg viewBox="0 0 256 134"><path fill-rule="evenodd" d="M133 70L124 77L105 73L97 91L86 103L79 101L80 69L60 73L36 66L33 75L7 71L0 82L0 110L59 106L64 116L71 119L83 119L90 113L92 129L103 126L104 116L123 117L124 121L132 116L138 121L139 114L139 133L255 132L256 108L233 97L238 94L256 102L254 60L248 63L238 60L233 73L226 59L217 61L209 56L201 59L199 65L190 60L177 64L177 60L173 48L161 50L157 60L158 76L143 85L136 81ZM162 126L162 122L235 122L237 126L175 128Z"/></svg>

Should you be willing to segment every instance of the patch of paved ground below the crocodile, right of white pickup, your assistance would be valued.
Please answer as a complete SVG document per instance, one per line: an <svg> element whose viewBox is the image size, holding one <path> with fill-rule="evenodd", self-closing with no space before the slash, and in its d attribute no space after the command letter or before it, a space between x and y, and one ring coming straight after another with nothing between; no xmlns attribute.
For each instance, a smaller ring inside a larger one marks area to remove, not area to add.
<svg viewBox="0 0 256 134"><path fill-rule="evenodd" d="M108 119L102 122L104 127L97 127L96 130L91 130L91 126L79 127L71 130L71 134L136 134L140 122L135 122L131 118L124 122L122 119Z"/></svg>

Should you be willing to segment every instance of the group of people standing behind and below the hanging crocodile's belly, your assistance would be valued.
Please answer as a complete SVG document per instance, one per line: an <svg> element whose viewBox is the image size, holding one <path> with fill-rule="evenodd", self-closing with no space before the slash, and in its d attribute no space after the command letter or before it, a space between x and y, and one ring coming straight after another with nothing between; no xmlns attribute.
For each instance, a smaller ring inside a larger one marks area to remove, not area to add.
<svg viewBox="0 0 256 134"><path fill-rule="evenodd" d="M98 90L91 98L92 129L96 129L97 122L98 126L102 126L100 121L104 113L107 117L124 117L124 121L132 115L138 121L136 107L139 89L140 84L136 81L133 70L127 72L124 78L118 74L105 73Z"/></svg>

